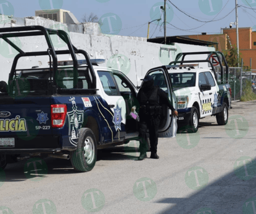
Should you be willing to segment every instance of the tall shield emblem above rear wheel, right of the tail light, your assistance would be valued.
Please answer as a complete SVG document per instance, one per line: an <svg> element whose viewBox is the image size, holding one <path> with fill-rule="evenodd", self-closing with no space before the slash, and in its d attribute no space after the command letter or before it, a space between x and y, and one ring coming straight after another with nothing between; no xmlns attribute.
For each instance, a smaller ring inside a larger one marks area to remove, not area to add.
<svg viewBox="0 0 256 214"><path fill-rule="evenodd" d="M70 143L76 146L80 135L81 126L83 124L83 110L77 110L75 97L70 97L69 101L72 102L72 111L68 112L68 136Z"/></svg>

